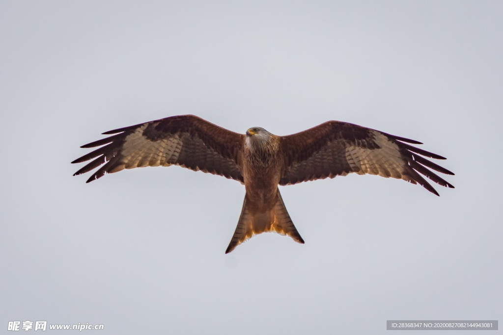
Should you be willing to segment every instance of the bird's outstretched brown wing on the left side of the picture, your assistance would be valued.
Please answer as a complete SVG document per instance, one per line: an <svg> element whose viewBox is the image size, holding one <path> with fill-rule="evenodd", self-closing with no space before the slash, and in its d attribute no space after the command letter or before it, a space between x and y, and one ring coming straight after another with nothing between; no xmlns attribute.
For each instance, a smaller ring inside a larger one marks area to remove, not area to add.
<svg viewBox="0 0 503 335"><path fill-rule="evenodd" d="M199 117L183 115L112 130L113 135L81 148L102 146L72 163L92 162L75 172L98 169L87 182L105 173L144 166L180 165L194 171L243 182L239 166L244 135L218 127Z"/></svg>

